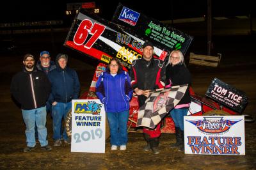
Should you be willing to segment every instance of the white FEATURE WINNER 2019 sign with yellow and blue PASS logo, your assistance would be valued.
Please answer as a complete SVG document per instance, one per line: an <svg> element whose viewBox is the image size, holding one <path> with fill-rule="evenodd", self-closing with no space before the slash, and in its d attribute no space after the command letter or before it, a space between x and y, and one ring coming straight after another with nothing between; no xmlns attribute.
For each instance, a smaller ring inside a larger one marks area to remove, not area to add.
<svg viewBox="0 0 256 170"><path fill-rule="evenodd" d="M71 151L105 153L105 119L99 99L72 100Z"/></svg>

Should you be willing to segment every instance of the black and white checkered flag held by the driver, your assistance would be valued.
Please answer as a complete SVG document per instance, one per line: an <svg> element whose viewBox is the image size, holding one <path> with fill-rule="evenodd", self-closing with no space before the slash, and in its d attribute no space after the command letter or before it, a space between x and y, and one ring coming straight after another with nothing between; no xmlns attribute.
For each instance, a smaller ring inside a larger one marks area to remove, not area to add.
<svg viewBox="0 0 256 170"><path fill-rule="evenodd" d="M155 128L162 118L180 102L187 88L188 84L185 84L153 91L139 109L136 126Z"/></svg>

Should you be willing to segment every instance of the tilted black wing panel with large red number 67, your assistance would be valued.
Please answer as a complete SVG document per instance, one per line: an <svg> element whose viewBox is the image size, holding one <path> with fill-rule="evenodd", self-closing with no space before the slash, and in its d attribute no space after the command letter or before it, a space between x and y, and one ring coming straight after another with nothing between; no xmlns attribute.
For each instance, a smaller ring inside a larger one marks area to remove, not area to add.
<svg viewBox="0 0 256 170"><path fill-rule="evenodd" d="M118 58L125 67L131 68L132 61L142 57L141 47L146 40L141 35L132 34L127 27L118 26L81 9L64 45L104 63L109 63L113 57ZM164 60L170 54L170 48L156 43L154 53L156 58Z"/></svg>

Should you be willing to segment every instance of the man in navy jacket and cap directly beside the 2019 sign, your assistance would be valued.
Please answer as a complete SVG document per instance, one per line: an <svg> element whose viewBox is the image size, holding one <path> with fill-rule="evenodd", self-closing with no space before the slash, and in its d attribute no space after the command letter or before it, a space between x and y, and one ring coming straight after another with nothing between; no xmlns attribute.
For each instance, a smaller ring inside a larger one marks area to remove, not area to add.
<svg viewBox="0 0 256 170"><path fill-rule="evenodd" d="M48 78L52 85L49 102L52 104L54 146L61 146L61 120L66 119L71 109L71 100L78 99L80 83L75 70L67 66L67 54L58 54L57 68L49 72ZM64 142L70 144L66 130L63 130Z"/></svg>

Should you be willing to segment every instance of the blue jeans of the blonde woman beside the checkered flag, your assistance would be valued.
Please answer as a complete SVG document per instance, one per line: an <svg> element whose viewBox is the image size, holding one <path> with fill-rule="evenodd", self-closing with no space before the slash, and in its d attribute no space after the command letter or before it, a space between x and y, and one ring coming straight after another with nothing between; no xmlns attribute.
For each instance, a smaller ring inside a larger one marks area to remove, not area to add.
<svg viewBox="0 0 256 170"><path fill-rule="evenodd" d="M188 114L188 109L172 109L170 115L175 123L175 127L179 127L184 131L184 116Z"/></svg>

